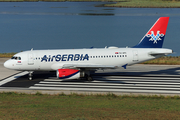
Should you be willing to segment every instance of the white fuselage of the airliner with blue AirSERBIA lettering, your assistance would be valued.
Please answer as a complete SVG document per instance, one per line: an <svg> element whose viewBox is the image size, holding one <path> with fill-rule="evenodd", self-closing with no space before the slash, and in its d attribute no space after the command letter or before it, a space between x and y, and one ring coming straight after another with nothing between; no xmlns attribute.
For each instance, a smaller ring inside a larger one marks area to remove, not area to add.
<svg viewBox="0 0 180 120"><path fill-rule="evenodd" d="M56 71L64 65L116 66L132 65L172 53L164 48L102 48L67 50L32 50L17 53L19 59L4 63L20 71Z"/></svg>

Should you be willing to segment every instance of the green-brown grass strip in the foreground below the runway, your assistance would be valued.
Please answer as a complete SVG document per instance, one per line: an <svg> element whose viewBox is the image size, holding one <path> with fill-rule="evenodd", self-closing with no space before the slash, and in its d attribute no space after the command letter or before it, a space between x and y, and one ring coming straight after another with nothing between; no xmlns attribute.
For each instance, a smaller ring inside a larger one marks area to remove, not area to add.
<svg viewBox="0 0 180 120"><path fill-rule="evenodd" d="M177 119L179 96L0 93L0 119Z"/></svg>

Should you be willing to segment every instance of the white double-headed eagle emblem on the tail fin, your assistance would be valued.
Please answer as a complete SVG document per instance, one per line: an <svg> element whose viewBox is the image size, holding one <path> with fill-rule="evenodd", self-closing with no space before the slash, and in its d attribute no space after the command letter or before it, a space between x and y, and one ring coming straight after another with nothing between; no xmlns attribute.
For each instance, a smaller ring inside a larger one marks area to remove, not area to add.
<svg viewBox="0 0 180 120"><path fill-rule="evenodd" d="M160 31L157 31L156 36L155 36L154 31L151 31L151 34L147 34L146 36L151 37L149 41L154 41L153 43L157 44L157 41L162 40L162 37L164 37L164 34L163 33L160 34Z"/></svg>

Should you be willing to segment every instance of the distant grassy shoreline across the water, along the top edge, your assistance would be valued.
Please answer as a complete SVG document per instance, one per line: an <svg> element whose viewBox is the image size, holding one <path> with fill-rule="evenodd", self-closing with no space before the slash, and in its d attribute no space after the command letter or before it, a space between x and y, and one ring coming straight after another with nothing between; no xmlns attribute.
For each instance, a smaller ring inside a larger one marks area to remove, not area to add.
<svg viewBox="0 0 180 120"><path fill-rule="evenodd" d="M109 2L97 7L180 8L179 0L0 0L0 2Z"/></svg>

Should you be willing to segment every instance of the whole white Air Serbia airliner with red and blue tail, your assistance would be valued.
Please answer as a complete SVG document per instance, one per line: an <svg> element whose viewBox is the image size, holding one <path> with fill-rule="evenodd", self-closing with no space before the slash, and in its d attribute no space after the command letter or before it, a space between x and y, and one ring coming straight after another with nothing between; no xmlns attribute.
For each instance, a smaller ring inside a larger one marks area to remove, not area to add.
<svg viewBox="0 0 180 120"><path fill-rule="evenodd" d="M105 47L93 49L30 50L15 54L4 63L9 69L29 71L56 71L59 79L86 78L91 71L114 69L159 58L172 53L162 48L169 17L160 17L142 40L131 48Z"/></svg>

